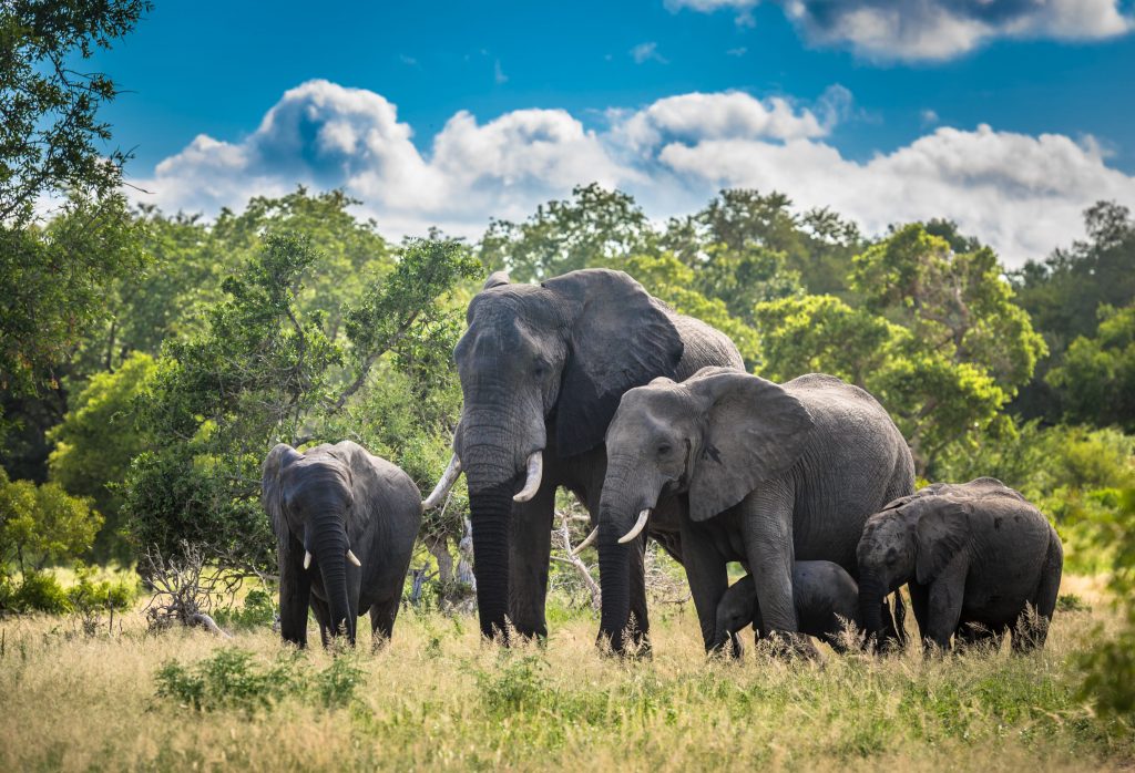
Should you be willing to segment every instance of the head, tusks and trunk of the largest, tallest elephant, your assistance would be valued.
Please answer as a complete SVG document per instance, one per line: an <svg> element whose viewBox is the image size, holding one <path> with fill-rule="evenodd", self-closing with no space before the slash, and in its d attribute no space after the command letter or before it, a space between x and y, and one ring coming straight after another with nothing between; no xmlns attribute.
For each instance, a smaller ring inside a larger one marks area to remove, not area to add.
<svg viewBox="0 0 1135 773"><path fill-rule="evenodd" d="M603 269L539 286L495 273L466 321L454 349L464 398L455 456L427 506L465 474L481 631L493 636L507 613L512 504L540 490L545 452L599 445L623 392L673 375L683 346L641 284Z"/></svg>

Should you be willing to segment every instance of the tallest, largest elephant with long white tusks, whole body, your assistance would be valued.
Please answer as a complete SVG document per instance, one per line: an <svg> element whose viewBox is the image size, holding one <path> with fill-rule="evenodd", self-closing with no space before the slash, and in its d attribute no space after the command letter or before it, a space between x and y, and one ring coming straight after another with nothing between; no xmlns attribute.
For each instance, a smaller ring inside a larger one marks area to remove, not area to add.
<svg viewBox="0 0 1135 773"><path fill-rule="evenodd" d="M728 337L674 313L621 271L586 269L540 284L497 272L466 321L454 349L464 397L454 458L426 504L465 474L481 632L504 635L507 615L521 635L543 637L555 493L566 486L595 519L603 438L623 392L743 363ZM663 515L650 534L678 554L676 519ZM638 541L628 559L628 603L645 635L644 546Z"/></svg>

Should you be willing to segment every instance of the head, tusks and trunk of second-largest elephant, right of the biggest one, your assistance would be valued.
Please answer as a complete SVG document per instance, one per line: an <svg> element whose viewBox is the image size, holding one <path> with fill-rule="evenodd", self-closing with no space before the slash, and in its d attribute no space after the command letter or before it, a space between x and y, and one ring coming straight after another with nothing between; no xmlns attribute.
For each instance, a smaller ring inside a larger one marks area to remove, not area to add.
<svg viewBox="0 0 1135 773"><path fill-rule="evenodd" d="M713 518L785 473L813 426L783 388L706 367L683 383L656 379L623 396L607 430L599 502L600 637L622 649L629 617L629 547L663 491L687 494L689 517Z"/></svg>

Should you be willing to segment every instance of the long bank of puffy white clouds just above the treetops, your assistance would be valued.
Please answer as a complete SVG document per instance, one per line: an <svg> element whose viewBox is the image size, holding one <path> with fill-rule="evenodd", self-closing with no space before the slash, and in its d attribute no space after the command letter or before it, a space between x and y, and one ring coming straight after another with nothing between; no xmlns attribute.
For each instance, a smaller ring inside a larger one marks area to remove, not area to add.
<svg viewBox="0 0 1135 773"><path fill-rule="evenodd" d="M743 186L781 190L800 209L830 206L869 233L952 218L1009 264L1079 237L1082 211L1098 199L1135 205L1135 178L1109 168L1091 138L940 127L867 161L847 159L829 137L850 108L850 93L833 86L810 103L679 94L608 110L602 128L565 110L488 121L461 111L419 150L381 95L310 80L245 138L199 135L131 181L153 192L133 194L140 201L210 216L299 184L340 187L392 238L437 226L472 239L489 218L523 219L591 181L633 194L658 220Z"/></svg>

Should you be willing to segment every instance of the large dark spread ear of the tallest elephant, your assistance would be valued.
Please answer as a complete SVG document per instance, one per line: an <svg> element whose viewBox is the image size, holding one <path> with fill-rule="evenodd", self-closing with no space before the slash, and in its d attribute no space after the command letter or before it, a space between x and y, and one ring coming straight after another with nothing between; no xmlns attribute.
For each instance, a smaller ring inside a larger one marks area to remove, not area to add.
<svg viewBox="0 0 1135 773"><path fill-rule="evenodd" d="M623 392L673 379L683 346L662 304L621 271L572 271L543 287L572 308L556 407L556 450L571 457L603 442Z"/></svg>

